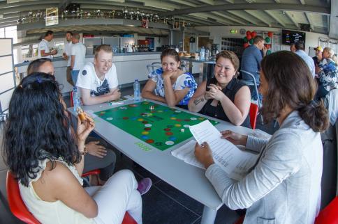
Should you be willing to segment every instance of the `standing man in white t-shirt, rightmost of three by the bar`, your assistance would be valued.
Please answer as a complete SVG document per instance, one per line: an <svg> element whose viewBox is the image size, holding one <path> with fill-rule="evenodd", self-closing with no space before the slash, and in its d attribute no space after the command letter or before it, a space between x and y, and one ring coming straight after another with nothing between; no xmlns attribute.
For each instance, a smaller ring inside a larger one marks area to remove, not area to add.
<svg viewBox="0 0 338 224"><path fill-rule="evenodd" d="M71 49L71 74L73 83L76 83L78 80L78 75L80 70L82 70L82 67L85 63L86 56L86 47L80 42L80 35L78 33L73 34L72 38L72 49Z"/></svg>

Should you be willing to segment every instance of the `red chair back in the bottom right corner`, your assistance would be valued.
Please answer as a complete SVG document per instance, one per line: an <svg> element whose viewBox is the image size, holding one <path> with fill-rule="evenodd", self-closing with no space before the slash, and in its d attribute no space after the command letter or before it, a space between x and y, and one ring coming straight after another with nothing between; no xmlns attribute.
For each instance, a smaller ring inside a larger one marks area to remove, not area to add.
<svg viewBox="0 0 338 224"><path fill-rule="evenodd" d="M330 204L319 212L315 224L337 224L338 223L338 196Z"/></svg>

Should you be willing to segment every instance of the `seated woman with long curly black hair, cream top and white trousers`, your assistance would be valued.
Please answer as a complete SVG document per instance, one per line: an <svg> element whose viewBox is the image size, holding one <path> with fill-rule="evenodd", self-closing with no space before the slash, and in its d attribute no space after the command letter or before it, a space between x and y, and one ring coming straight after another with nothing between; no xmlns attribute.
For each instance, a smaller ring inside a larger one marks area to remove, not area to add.
<svg viewBox="0 0 338 224"><path fill-rule="evenodd" d="M121 223L125 211L142 223L142 200L131 171L115 173L102 187L82 188L84 141L94 121L78 118L72 134L61 97L54 76L33 73L10 99L4 158L20 183L24 204L41 223Z"/></svg>

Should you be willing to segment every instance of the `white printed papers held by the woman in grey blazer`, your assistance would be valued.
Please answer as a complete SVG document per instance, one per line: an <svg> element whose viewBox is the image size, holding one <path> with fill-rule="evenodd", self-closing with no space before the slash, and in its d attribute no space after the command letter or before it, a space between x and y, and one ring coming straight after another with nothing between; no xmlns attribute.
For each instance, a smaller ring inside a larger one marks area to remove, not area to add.
<svg viewBox="0 0 338 224"><path fill-rule="evenodd" d="M258 154L245 152L238 147L221 138L221 133L214 127L209 120L200 122L198 125L189 127L191 134L199 144L207 142L212 150L214 162L218 164L230 178L240 180L249 172L258 159ZM195 141L193 141L195 142ZM193 166L202 167L194 155L194 143L190 141L182 147L172 152L178 159L184 160Z"/></svg>

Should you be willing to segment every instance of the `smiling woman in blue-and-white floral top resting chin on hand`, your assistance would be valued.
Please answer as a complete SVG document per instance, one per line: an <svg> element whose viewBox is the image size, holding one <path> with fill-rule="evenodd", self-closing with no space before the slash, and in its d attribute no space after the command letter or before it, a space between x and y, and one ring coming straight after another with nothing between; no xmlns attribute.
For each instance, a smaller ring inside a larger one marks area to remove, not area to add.
<svg viewBox="0 0 338 224"><path fill-rule="evenodd" d="M174 49L162 52L161 63L161 68L149 74L142 97L187 109L189 99L197 88L195 79L179 69L180 59Z"/></svg>

